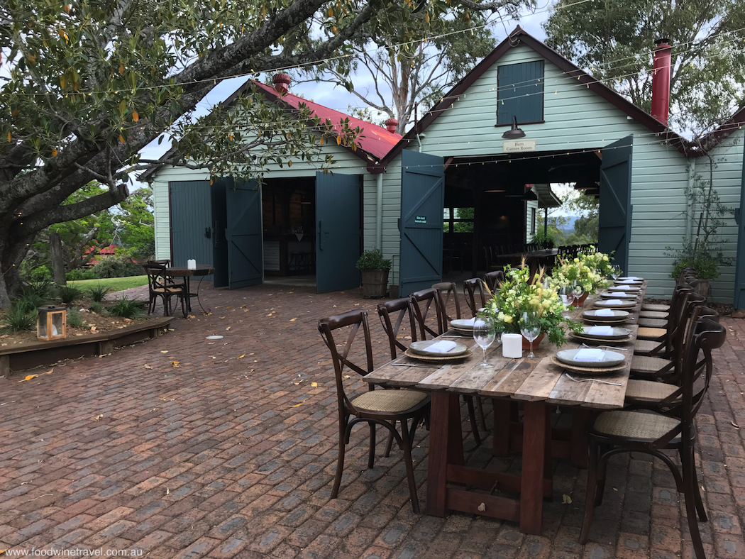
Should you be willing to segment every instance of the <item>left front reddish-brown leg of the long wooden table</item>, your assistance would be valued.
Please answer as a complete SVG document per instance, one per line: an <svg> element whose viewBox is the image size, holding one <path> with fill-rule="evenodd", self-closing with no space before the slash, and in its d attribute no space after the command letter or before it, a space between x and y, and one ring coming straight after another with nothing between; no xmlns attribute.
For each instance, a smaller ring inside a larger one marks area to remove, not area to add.
<svg viewBox="0 0 745 559"><path fill-rule="evenodd" d="M448 464L463 465L460 401L451 392L432 393L427 470L427 514L446 514Z"/></svg>

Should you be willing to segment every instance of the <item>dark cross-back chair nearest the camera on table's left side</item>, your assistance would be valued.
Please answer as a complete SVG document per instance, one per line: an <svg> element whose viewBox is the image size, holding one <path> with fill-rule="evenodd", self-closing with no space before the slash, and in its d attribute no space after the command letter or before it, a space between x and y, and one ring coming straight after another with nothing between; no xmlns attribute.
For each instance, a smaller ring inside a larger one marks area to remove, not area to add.
<svg viewBox="0 0 745 559"><path fill-rule="evenodd" d="M411 506L419 512L419 500L416 498L416 481L414 480L411 446L416 433L416 426L428 412L430 397L426 392L402 390L369 390L356 396L347 396L344 387L344 373L352 370L363 377L373 370L373 344L370 339L370 325L367 311L352 311L343 315L321 318L318 320L318 331L332 355L337 389L339 413L339 456L336 476L332 488L332 499L339 494L341 476L344 470L344 453L349 443L352 427L357 423L370 426L370 451L367 467L375 464L375 426L381 425L396 439L404 453L406 477L409 485ZM361 332L361 336L358 334ZM343 341L339 350L335 335ZM346 335L346 341L344 341ZM360 338L362 341L360 341ZM360 344L362 347L360 348ZM409 426L409 420L411 425ZM401 432L396 430L396 422L401 423Z"/></svg>

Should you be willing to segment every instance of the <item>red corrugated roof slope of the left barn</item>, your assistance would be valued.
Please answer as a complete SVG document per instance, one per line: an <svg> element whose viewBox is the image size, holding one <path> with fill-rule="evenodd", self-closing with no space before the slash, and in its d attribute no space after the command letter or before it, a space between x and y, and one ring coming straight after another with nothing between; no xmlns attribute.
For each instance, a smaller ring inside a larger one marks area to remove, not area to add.
<svg viewBox="0 0 745 559"><path fill-rule="evenodd" d="M297 109L299 104L305 103L308 109L321 119L321 121L325 122L326 119L329 119L332 122L334 130L337 132L341 130L341 121L349 119L350 128L360 127L361 130L364 130L359 136L357 136L358 148L367 151L368 154L375 157L384 157L385 154L387 154L401 139L400 134L388 132L384 127L380 127L377 124L361 119L355 119L354 116L349 116L340 113L337 110L329 109L329 107L324 107L323 105L314 103L313 101L308 101L308 99L298 97L289 92L282 95L282 97L279 97L279 94L271 86L267 86L266 84L259 83L255 80L252 81L256 86L259 86L259 88L262 89L269 98L281 98L282 101L285 101L285 103L294 109Z"/></svg>

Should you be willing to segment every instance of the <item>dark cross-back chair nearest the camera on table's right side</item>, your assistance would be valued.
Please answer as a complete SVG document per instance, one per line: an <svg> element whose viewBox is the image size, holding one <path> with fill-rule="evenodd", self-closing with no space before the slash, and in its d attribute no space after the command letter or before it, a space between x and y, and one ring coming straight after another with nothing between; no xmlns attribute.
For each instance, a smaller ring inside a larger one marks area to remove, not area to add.
<svg viewBox="0 0 745 559"><path fill-rule="evenodd" d="M589 539L595 506L602 504L608 459L621 452L642 452L659 458L670 468L676 488L683 493L688 529L697 559L706 559L698 521L706 522L696 474L694 418L711 383L713 361L711 350L721 347L726 339L724 326L709 318L697 320L691 344L685 350L681 403L676 414L650 411L603 411L588 428L589 467L585 517L580 531L580 543ZM675 450L681 467L665 453Z"/></svg>

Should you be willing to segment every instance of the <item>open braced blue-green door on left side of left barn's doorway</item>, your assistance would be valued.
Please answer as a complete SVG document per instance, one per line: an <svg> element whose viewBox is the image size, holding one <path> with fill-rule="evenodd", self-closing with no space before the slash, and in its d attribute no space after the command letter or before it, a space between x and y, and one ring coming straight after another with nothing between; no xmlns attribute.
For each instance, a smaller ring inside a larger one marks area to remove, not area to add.
<svg viewBox="0 0 745 559"><path fill-rule="evenodd" d="M228 288L257 285L264 277L264 245L261 234L261 189L256 180L225 184L228 252Z"/></svg>

